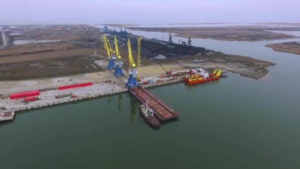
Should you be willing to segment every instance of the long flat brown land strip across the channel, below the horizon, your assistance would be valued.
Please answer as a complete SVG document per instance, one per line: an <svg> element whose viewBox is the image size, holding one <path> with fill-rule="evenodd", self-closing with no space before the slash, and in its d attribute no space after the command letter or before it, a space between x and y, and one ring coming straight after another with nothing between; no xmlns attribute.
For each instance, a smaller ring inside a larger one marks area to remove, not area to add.
<svg viewBox="0 0 300 169"><path fill-rule="evenodd" d="M263 41L297 38L283 33L265 31L265 26L232 26L232 27L194 27L194 28L168 28L174 36L187 38L187 32L191 38L214 39L224 41ZM166 32L165 28L136 28L131 30Z"/></svg>

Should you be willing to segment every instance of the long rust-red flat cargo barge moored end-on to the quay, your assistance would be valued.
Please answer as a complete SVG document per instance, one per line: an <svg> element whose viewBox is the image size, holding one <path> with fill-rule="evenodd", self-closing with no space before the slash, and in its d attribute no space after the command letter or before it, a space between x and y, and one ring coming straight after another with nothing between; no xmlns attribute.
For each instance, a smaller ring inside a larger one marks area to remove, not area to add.
<svg viewBox="0 0 300 169"><path fill-rule="evenodd" d="M162 101L156 98L148 90L143 87L134 87L128 89L129 93L132 94L141 104L145 104L148 101L149 107L153 110L155 116L160 121L177 118L179 114L173 109L165 105Z"/></svg>

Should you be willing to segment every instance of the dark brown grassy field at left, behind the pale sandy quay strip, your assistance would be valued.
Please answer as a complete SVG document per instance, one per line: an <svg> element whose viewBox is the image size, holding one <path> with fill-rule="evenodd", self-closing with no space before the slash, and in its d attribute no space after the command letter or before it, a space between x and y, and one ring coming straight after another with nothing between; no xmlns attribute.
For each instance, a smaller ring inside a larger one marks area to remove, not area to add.
<svg viewBox="0 0 300 169"><path fill-rule="evenodd" d="M95 65L93 62L95 60L99 60L99 58L94 55L64 56L47 60L37 57L36 61L18 63L11 60L10 63L0 65L0 81L61 77L104 71L98 66L94 68L90 65Z"/></svg>

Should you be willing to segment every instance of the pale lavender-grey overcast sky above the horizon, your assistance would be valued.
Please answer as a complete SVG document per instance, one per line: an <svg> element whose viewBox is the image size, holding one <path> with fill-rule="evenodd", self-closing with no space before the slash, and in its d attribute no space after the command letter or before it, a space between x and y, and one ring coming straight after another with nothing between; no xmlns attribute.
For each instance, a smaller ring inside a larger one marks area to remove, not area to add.
<svg viewBox="0 0 300 169"><path fill-rule="evenodd" d="M1 0L0 25L300 23L300 0Z"/></svg>

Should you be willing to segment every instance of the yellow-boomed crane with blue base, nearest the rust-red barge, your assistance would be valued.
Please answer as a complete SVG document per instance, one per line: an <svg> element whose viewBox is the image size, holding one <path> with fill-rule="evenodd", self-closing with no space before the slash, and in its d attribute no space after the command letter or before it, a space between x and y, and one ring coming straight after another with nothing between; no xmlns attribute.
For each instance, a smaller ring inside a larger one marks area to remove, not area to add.
<svg viewBox="0 0 300 169"><path fill-rule="evenodd" d="M133 57L132 57L132 52L131 52L131 45L130 45L130 39L128 38L127 40L127 46L128 46L128 60L129 60L129 65L130 65L130 71L129 71L129 78L128 81L126 83L126 85L129 88L133 88L135 86L139 86L138 81L137 81L137 70L134 69L134 67L136 67Z"/></svg>

